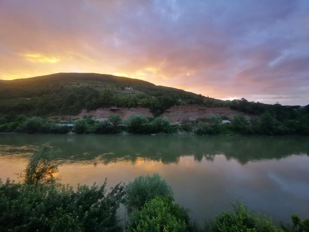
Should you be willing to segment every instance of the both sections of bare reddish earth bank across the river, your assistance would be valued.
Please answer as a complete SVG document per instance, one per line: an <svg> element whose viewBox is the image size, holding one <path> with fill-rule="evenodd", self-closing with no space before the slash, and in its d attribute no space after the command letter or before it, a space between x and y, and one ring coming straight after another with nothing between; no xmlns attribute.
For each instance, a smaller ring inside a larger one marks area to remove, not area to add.
<svg viewBox="0 0 309 232"><path fill-rule="evenodd" d="M82 118L84 115L91 115L96 120L104 120L108 118L109 114L119 114L122 119L129 118L135 114L153 118L150 109L141 106L136 108L102 107L88 112L83 111L75 116L64 116L64 118ZM250 115L238 110L232 110L229 107L206 107L197 105L175 105L165 111L161 117L166 117L172 124L177 124L185 119L209 118L214 115L227 116L229 118L233 118L235 115L243 115L247 119L250 118Z"/></svg>

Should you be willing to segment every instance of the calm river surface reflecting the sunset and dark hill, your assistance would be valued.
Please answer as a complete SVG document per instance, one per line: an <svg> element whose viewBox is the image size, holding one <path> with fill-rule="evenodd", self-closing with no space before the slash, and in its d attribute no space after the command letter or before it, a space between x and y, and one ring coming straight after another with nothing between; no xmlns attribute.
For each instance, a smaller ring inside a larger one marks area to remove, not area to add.
<svg viewBox="0 0 309 232"><path fill-rule="evenodd" d="M157 172L200 223L236 199L275 223L309 218L308 137L0 134L0 178L16 179L45 142L62 149L62 183L113 186Z"/></svg>

